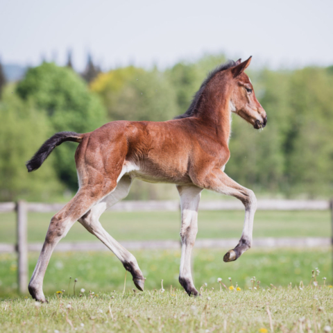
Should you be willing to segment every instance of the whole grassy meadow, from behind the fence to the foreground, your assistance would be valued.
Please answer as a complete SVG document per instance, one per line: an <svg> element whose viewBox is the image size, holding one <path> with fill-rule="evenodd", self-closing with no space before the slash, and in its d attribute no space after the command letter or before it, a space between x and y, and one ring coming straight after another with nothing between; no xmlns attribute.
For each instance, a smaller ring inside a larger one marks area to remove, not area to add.
<svg viewBox="0 0 333 333"><path fill-rule="evenodd" d="M51 216L29 213L30 242L44 240ZM243 212L199 212L198 238L239 237L243 219ZM179 239L178 212L107 212L101 222L119 240ZM0 241L15 242L15 215L1 214L0 225ZM330 213L258 211L254 236L328 237ZM79 223L64 239L83 240L96 241ZM1 332L330 332L330 248L253 248L231 263L223 262L225 250L194 249L199 298L178 283L180 250L132 251L146 277L143 293L111 252L53 253L42 305L17 294L16 254L2 253ZM37 257L28 255L29 276Z"/></svg>

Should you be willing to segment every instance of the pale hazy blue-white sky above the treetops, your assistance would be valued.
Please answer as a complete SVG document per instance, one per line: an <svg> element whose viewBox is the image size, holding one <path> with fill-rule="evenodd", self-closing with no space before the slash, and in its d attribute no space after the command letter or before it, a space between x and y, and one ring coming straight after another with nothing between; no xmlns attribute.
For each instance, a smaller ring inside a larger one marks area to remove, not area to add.
<svg viewBox="0 0 333 333"><path fill-rule="evenodd" d="M0 0L6 64L82 70L91 52L102 69L164 68L205 53L253 56L257 67L333 65L332 0Z"/></svg>

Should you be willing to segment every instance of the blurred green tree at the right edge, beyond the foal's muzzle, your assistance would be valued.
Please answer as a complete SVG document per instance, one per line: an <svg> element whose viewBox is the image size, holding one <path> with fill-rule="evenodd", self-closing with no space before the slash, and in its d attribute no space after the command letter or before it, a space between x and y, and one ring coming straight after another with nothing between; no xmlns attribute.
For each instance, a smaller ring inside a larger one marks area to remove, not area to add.
<svg viewBox="0 0 333 333"><path fill-rule="evenodd" d="M284 154L290 194L327 196L333 189L333 76L305 68L291 77L291 130Z"/></svg>

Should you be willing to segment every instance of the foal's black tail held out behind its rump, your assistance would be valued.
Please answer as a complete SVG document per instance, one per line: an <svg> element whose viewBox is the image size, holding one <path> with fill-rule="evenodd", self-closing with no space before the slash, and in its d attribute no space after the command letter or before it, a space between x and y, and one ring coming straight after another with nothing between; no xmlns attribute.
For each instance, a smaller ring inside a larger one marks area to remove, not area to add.
<svg viewBox="0 0 333 333"><path fill-rule="evenodd" d="M30 161L26 162L26 169L28 169L28 172L37 170L42 165L44 160L46 160L46 158L52 153L53 149L56 148L56 146L59 146L65 141L81 142L82 138L82 134L75 132L56 133L53 137L50 137L46 140L46 142L44 142L44 144L42 144Z"/></svg>

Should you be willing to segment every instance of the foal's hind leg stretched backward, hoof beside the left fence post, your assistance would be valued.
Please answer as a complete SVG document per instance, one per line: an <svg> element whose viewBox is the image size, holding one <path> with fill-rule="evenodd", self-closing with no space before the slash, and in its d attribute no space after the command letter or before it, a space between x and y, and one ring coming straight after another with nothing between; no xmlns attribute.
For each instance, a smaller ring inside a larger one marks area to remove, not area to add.
<svg viewBox="0 0 333 333"><path fill-rule="evenodd" d="M28 285L28 290L35 300L46 302L43 280L54 248L56 248L60 239L66 236L71 226L101 198L103 198L103 195L99 191L92 193L91 190L85 189L85 187L80 188L74 198L52 217L40 257Z"/></svg>

